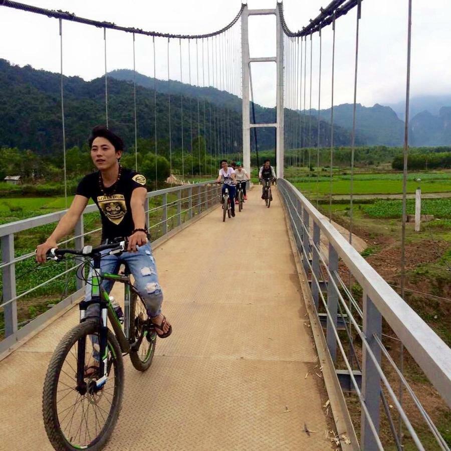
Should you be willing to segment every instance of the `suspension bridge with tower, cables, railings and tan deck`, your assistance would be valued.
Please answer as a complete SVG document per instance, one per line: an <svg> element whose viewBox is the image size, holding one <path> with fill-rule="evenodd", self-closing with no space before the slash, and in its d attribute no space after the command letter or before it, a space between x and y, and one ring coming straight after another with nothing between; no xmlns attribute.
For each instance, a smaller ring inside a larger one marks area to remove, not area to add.
<svg viewBox="0 0 451 451"><path fill-rule="evenodd" d="M322 30L332 27L335 49L336 24L351 14L356 18L353 175L363 4L361 0L334 0L299 32L290 30L282 3L265 10L243 4L235 18L217 32L177 35L0 2L18 10L17 14L25 11L59 21L65 186L66 145L73 137L65 121L64 25L70 21L102 32L105 103L101 114L111 128L125 122L111 107L115 92L109 89L108 34L114 30L131 36L133 108L127 131L134 139L132 161L137 170L142 162L139 108L144 92L136 77L135 42L138 37L150 41L154 85L153 103L146 104L151 113L146 124L152 125L147 134L154 142L155 158L164 151L169 174L176 177L170 179L173 186L158 189L161 177L155 162L156 189L147 194L146 213L164 289L163 308L174 332L168 340L157 341L147 372L138 373L127 362L123 407L107 449L449 449L449 441L431 419L432 412L421 403L422 393L415 391L404 374L403 357L399 358L408 352L428 380L436 402L451 406L451 350L403 300L404 246L398 295L355 249L352 189L350 228L343 235L330 217L319 212L318 201L313 205L293 184L296 169L310 167L315 156L319 168L319 150L326 146L330 146L332 176L334 57L331 124L325 127L319 117L321 95L318 117L312 115L312 40L319 40L321 52ZM411 0L406 10L403 244ZM276 18L276 55L252 58L248 20L262 15ZM164 49L166 61L164 97L156 87L160 81L158 49ZM256 62L276 65L273 122L255 121L251 63ZM319 64L321 92L321 64L325 64L321 53ZM183 85L203 91L181 90ZM216 92L232 95L227 108L215 102L212 93ZM274 202L270 209L264 208L260 188L254 186L244 211L222 224L213 170L222 158L240 158L251 172L254 153L258 162L257 129L275 130L270 135L275 140L278 177ZM168 143L164 150L162 137ZM312 155L315 145L317 155ZM288 176L289 167L294 167L294 176ZM189 183L174 183L184 179ZM98 224L88 219L96 210L95 205L86 207L74 236L64 243L81 248L95 242ZM82 280L73 286L67 283L59 302L52 302L32 320L20 321L23 305L37 294L45 302L56 280L75 280L79 264L24 289L21 277L30 268L24 265L34 259L34 253L18 255L15 241L36 228L55 225L63 214L59 211L0 225L0 308L5 318L0 341L0 449L51 448L42 421L42 384L56 345L77 322L75 306L85 287ZM113 296L121 298L118 287L113 288ZM416 430L418 418L425 425L421 433Z"/></svg>

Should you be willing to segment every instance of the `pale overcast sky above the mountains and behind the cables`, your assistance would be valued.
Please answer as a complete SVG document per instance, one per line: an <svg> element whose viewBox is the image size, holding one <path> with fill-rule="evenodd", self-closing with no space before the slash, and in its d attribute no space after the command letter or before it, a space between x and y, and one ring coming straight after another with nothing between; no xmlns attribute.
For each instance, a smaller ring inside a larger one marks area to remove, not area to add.
<svg viewBox="0 0 451 451"><path fill-rule="evenodd" d="M229 23L241 7L239 0L24 0L30 5L63 10L77 16L117 25L177 34L201 34ZM329 0L285 0L289 28L308 24ZM276 0L249 0L249 8L275 8ZM413 0L411 96L451 93L451 3L448 0ZM251 57L275 56L275 17L249 19ZM356 11L336 24L334 103L352 103ZM360 21L357 102L366 106L393 103L405 97L407 0L364 0ZM239 27L230 39L240 39ZM103 30L82 24L63 23L64 74L85 80L104 73ZM0 58L21 66L60 71L59 28L56 19L0 7ZM318 35L313 38L313 101L318 106ZM132 35L107 31L108 70L133 68ZM187 45L182 47L182 78L188 81ZM191 77L196 82L195 45L191 43ZM200 44L199 44L200 45ZM212 41L209 42L212 45ZM136 70L153 76L152 38L136 37ZM310 42L307 43L308 49ZM322 36L321 107L330 107L332 29ZM209 47L212 52L211 47ZM171 41L171 79L180 80L179 44ZM206 64L206 50L205 50ZM156 39L157 78L167 78L167 40ZM206 69L205 69L206 70ZM309 78L307 59L307 77ZM252 65L255 101L275 105L274 63ZM206 78L206 76L205 76ZM237 76L238 78L238 76ZM206 83L206 82L205 82ZM200 78L200 84L202 79ZM308 86L308 84L307 84ZM307 88L308 89L308 88ZM402 119L402 118L401 118Z"/></svg>

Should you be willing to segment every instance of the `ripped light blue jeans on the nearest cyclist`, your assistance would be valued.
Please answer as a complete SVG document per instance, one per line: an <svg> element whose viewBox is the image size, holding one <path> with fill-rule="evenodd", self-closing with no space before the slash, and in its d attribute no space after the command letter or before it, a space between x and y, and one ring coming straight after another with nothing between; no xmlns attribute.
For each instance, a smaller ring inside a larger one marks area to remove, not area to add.
<svg viewBox="0 0 451 451"><path fill-rule="evenodd" d="M109 251L102 251L100 270L102 273L117 274L121 263L126 263L134 278L134 287L146 303L147 313L151 318L155 318L161 313L161 303L163 302L163 292L158 282L158 275L155 266L155 259L152 255L150 243L140 246L137 252L124 252L122 255L108 255ZM91 300L91 275L89 273L88 284L86 285L85 300ZM104 280L102 287L107 293L113 288L114 282ZM92 304L86 311L88 316L99 315L99 304Z"/></svg>

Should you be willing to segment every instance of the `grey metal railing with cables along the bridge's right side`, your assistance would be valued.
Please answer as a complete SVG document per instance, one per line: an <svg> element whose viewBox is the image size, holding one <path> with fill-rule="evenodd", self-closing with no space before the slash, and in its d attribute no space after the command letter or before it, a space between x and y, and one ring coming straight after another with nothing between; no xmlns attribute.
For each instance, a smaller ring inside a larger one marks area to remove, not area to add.
<svg viewBox="0 0 451 451"><path fill-rule="evenodd" d="M448 450L446 441L384 345L384 341L393 340L393 337L382 333L383 320L448 407L451 406L451 349L294 185L279 179L278 188L309 279L314 315L318 324L323 323L325 328L322 339L335 369L336 386L354 393L359 400L360 444L352 443L351 449L384 449L379 434L381 412L385 412L395 449L403 449L401 430L410 436L418 449L425 449L409 419L412 412L404 408L407 394L409 405L419 412L437 449ZM321 237L328 242L326 253L321 249ZM346 281L340 273L347 275ZM352 280L360 289L351 284ZM361 293L361 303L357 293ZM384 365L382 355L386 359ZM339 368L343 365L346 370ZM383 366L390 370L384 371ZM393 382L390 382L393 379L400 387L393 388ZM345 403L344 396L341 399ZM396 418L393 418L396 411ZM352 423L351 427L354 427ZM348 432L357 441L354 428Z"/></svg>

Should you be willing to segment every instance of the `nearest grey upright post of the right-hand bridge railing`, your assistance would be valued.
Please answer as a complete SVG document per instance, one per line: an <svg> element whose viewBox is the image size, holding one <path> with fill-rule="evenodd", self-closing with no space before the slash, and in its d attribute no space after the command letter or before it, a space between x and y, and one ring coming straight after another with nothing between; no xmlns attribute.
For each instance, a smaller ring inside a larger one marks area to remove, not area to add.
<svg viewBox="0 0 451 451"><path fill-rule="evenodd" d="M380 365L381 349L374 339L374 335L377 335L379 339L382 334L382 316L377 310L376 306L373 304L371 299L368 297L366 291L363 291L363 333L369 344L371 351L376 357L377 362ZM362 346L362 395L363 400L368 408L368 412L373 421L374 427L379 433L379 423L380 423L380 376L377 372L376 365L374 364L371 357L368 355L366 346ZM376 440L371 428L369 426L368 420L362 409L361 415L361 448L372 451L373 449L378 449Z"/></svg>

